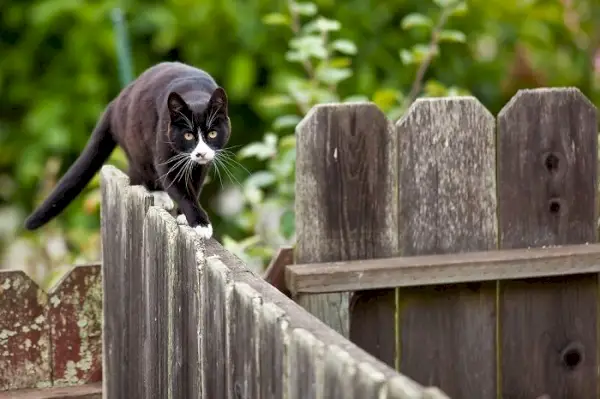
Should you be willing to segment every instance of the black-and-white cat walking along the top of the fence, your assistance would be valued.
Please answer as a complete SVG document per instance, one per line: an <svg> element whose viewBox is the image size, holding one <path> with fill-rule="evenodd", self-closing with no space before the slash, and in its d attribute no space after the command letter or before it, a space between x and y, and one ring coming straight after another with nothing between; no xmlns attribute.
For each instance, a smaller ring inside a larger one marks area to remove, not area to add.
<svg viewBox="0 0 600 399"><path fill-rule="evenodd" d="M106 106L83 152L25 228L35 230L59 215L118 145L128 160L130 184L146 187L155 205L172 210L176 203L177 222L209 239L213 227L200 192L230 135L227 94L211 75L180 62L156 64Z"/></svg>

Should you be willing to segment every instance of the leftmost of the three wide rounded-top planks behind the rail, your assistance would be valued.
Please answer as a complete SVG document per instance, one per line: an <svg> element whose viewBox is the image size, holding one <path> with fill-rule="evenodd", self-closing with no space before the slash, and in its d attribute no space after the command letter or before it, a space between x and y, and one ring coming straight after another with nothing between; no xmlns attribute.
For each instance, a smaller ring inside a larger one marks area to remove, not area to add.
<svg viewBox="0 0 600 399"><path fill-rule="evenodd" d="M392 132L392 124L374 104L320 105L298 125L297 262L396 254ZM347 294L303 296L297 300L336 331L393 364L395 331L390 326L394 320L394 290L377 293L377 301L371 301L370 292L355 295L351 321ZM371 327L380 322L384 323L380 328ZM385 342L385 347L379 342Z"/></svg>

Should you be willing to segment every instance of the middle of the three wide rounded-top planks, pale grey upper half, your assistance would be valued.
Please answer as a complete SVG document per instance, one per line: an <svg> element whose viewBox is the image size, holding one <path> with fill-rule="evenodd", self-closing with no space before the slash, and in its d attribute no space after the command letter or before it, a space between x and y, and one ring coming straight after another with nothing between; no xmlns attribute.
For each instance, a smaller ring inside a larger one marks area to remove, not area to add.
<svg viewBox="0 0 600 399"><path fill-rule="evenodd" d="M492 115L473 97L420 99L397 131L401 253L496 248ZM495 283L403 288L399 297L400 370L450 397L495 398Z"/></svg>

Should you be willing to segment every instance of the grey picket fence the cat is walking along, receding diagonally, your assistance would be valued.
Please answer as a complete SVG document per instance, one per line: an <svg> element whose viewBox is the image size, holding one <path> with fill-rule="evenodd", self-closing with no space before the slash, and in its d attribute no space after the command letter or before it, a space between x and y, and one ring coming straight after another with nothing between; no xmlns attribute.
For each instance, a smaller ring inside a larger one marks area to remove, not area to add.
<svg viewBox="0 0 600 399"><path fill-rule="evenodd" d="M445 397L178 226L116 168L101 182L105 397Z"/></svg>

